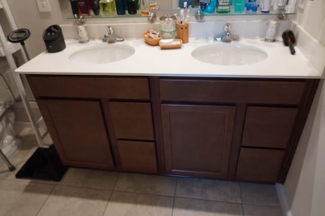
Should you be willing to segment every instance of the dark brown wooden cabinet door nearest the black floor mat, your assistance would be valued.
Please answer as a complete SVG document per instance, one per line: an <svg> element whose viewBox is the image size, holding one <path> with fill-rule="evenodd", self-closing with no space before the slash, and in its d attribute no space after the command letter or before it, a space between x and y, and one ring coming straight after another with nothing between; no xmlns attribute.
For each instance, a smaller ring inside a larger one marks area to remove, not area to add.
<svg viewBox="0 0 325 216"><path fill-rule="evenodd" d="M37 102L63 164L114 169L99 102Z"/></svg>

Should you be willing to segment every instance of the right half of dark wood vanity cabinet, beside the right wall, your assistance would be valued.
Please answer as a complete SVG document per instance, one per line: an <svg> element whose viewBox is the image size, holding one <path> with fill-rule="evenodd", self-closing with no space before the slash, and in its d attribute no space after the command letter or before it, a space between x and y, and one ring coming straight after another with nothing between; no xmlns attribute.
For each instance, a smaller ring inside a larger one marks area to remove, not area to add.
<svg viewBox="0 0 325 216"><path fill-rule="evenodd" d="M284 182L318 80L158 83L168 174Z"/></svg>

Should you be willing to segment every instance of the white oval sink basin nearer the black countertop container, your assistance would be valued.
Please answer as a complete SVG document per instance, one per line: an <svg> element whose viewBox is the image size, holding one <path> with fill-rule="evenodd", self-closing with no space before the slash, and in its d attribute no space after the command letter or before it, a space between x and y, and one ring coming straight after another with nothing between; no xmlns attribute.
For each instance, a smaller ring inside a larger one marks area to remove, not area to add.
<svg viewBox="0 0 325 216"><path fill-rule="evenodd" d="M106 64L132 56L135 49L126 45L104 44L80 49L69 56L70 61L81 64Z"/></svg>

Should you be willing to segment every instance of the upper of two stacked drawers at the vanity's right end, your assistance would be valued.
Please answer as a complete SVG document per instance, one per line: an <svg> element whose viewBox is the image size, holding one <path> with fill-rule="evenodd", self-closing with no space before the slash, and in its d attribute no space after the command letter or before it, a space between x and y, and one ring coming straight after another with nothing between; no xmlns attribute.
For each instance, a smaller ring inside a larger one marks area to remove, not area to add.
<svg viewBox="0 0 325 216"><path fill-rule="evenodd" d="M248 107L242 146L286 148L297 108Z"/></svg>

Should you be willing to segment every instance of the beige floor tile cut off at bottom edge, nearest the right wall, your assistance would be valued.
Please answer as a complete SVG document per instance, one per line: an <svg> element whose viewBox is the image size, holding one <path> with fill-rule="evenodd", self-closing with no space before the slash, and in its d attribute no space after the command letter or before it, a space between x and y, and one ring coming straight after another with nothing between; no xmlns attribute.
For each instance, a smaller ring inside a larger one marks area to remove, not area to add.
<svg viewBox="0 0 325 216"><path fill-rule="evenodd" d="M265 205L243 205L245 216L282 216L280 207Z"/></svg>

